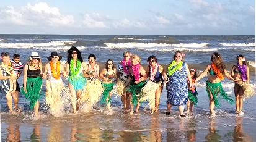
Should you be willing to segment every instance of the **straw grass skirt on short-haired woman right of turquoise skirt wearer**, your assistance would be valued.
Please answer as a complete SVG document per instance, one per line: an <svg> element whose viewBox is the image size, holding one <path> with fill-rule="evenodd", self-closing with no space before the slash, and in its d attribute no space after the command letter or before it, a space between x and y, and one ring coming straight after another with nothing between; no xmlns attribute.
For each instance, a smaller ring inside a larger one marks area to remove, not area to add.
<svg viewBox="0 0 256 142"><path fill-rule="evenodd" d="M97 78L96 80L87 80L85 90L81 93L79 102L89 102L91 105L99 101L100 95L104 91L102 83Z"/></svg>

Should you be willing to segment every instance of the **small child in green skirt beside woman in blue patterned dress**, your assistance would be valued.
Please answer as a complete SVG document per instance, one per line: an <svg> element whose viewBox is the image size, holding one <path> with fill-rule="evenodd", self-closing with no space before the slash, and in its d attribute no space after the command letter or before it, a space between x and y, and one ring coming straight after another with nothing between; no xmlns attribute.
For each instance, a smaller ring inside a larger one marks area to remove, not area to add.
<svg viewBox="0 0 256 142"><path fill-rule="evenodd" d="M191 74L192 83L194 83L195 79L196 79L196 70L190 69L190 74ZM198 93L196 91L195 86L192 86L192 88L188 89L188 102L187 102L187 111L186 112L193 111L193 105L195 104L195 106L196 106L196 103L198 103L197 95L198 95ZM189 110L190 104L191 104L191 108Z"/></svg>

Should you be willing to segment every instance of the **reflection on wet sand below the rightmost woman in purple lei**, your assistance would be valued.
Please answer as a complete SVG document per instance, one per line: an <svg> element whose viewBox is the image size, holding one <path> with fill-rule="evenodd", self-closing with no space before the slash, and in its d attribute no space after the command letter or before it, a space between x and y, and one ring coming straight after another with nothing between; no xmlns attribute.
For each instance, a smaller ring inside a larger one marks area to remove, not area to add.
<svg viewBox="0 0 256 142"><path fill-rule="evenodd" d="M253 141L249 135L246 135L242 130L242 118L236 116L234 133L232 141Z"/></svg>

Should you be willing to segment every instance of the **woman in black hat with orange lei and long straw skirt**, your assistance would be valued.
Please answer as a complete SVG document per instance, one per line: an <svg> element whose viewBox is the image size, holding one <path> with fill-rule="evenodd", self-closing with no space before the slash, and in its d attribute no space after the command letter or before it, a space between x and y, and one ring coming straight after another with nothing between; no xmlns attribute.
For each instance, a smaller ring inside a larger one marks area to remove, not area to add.
<svg viewBox="0 0 256 142"><path fill-rule="evenodd" d="M64 111L64 102L68 100L70 94L68 88L63 85L61 74L67 76L63 65L60 63L62 59L57 52L51 52L51 56L47 57L49 63L45 65L43 78L46 80L46 107L54 116L58 116Z"/></svg>

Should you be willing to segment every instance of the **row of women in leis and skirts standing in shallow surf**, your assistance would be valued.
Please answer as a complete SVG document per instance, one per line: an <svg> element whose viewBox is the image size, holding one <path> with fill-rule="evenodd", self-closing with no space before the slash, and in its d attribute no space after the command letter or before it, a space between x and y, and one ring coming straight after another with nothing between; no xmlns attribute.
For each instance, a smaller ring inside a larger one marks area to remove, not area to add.
<svg viewBox="0 0 256 142"><path fill-rule="evenodd" d="M47 78L46 107L53 115L64 111L65 102L71 101L73 112L76 113L83 102L92 106L99 101L102 94L101 102L107 104L107 109L110 110L113 91L121 96L125 112L128 112L129 107L130 114L138 112L141 102L149 100L151 114L157 113L163 85L166 83L166 115L170 115L172 106L178 106L180 116L185 117L183 111L185 104L188 102L188 91L208 72L210 75L208 81L206 81L206 91L210 100L209 107L212 116L215 115L214 106L220 106L219 93L227 101L234 102L223 91L221 86L223 75L236 82L234 91L237 113L242 114L242 101L245 91L247 91L247 98L252 95L253 91L249 86L249 67L245 64L245 58L242 55L237 56L237 65L232 67L230 75L227 73L221 55L214 52L211 56L211 64L208 64L203 73L193 79L193 82L190 75L191 70L184 62L185 54L180 51L175 52L166 69L159 65L157 57L152 55L148 57L149 65L144 70L140 64L140 57L128 51L123 53L123 59L118 63L117 68L115 68L113 61L108 59L101 72L99 65L95 63L96 56L94 54L89 55L89 63L86 64L82 59L81 52L74 46L68 50L66 70L63 64L60 63L61 58L57 52L52 52L51 56L47 58L50 62L45 65L43 72L38 53L32 52L29 63L24 66L22 93L29 99L30 108L34 107L36 116L38 115L38 99L41 94L42 78ZM0 73L2 75L2 72ZM61 75L68 77L69 90L61 80ZM147 78L149 78L148 82L146 82ZM0 79L2 80L2 78ZM114 83L117 83L116 88L114 88ZM134 106L136 106L135 111Z"/></svg>

